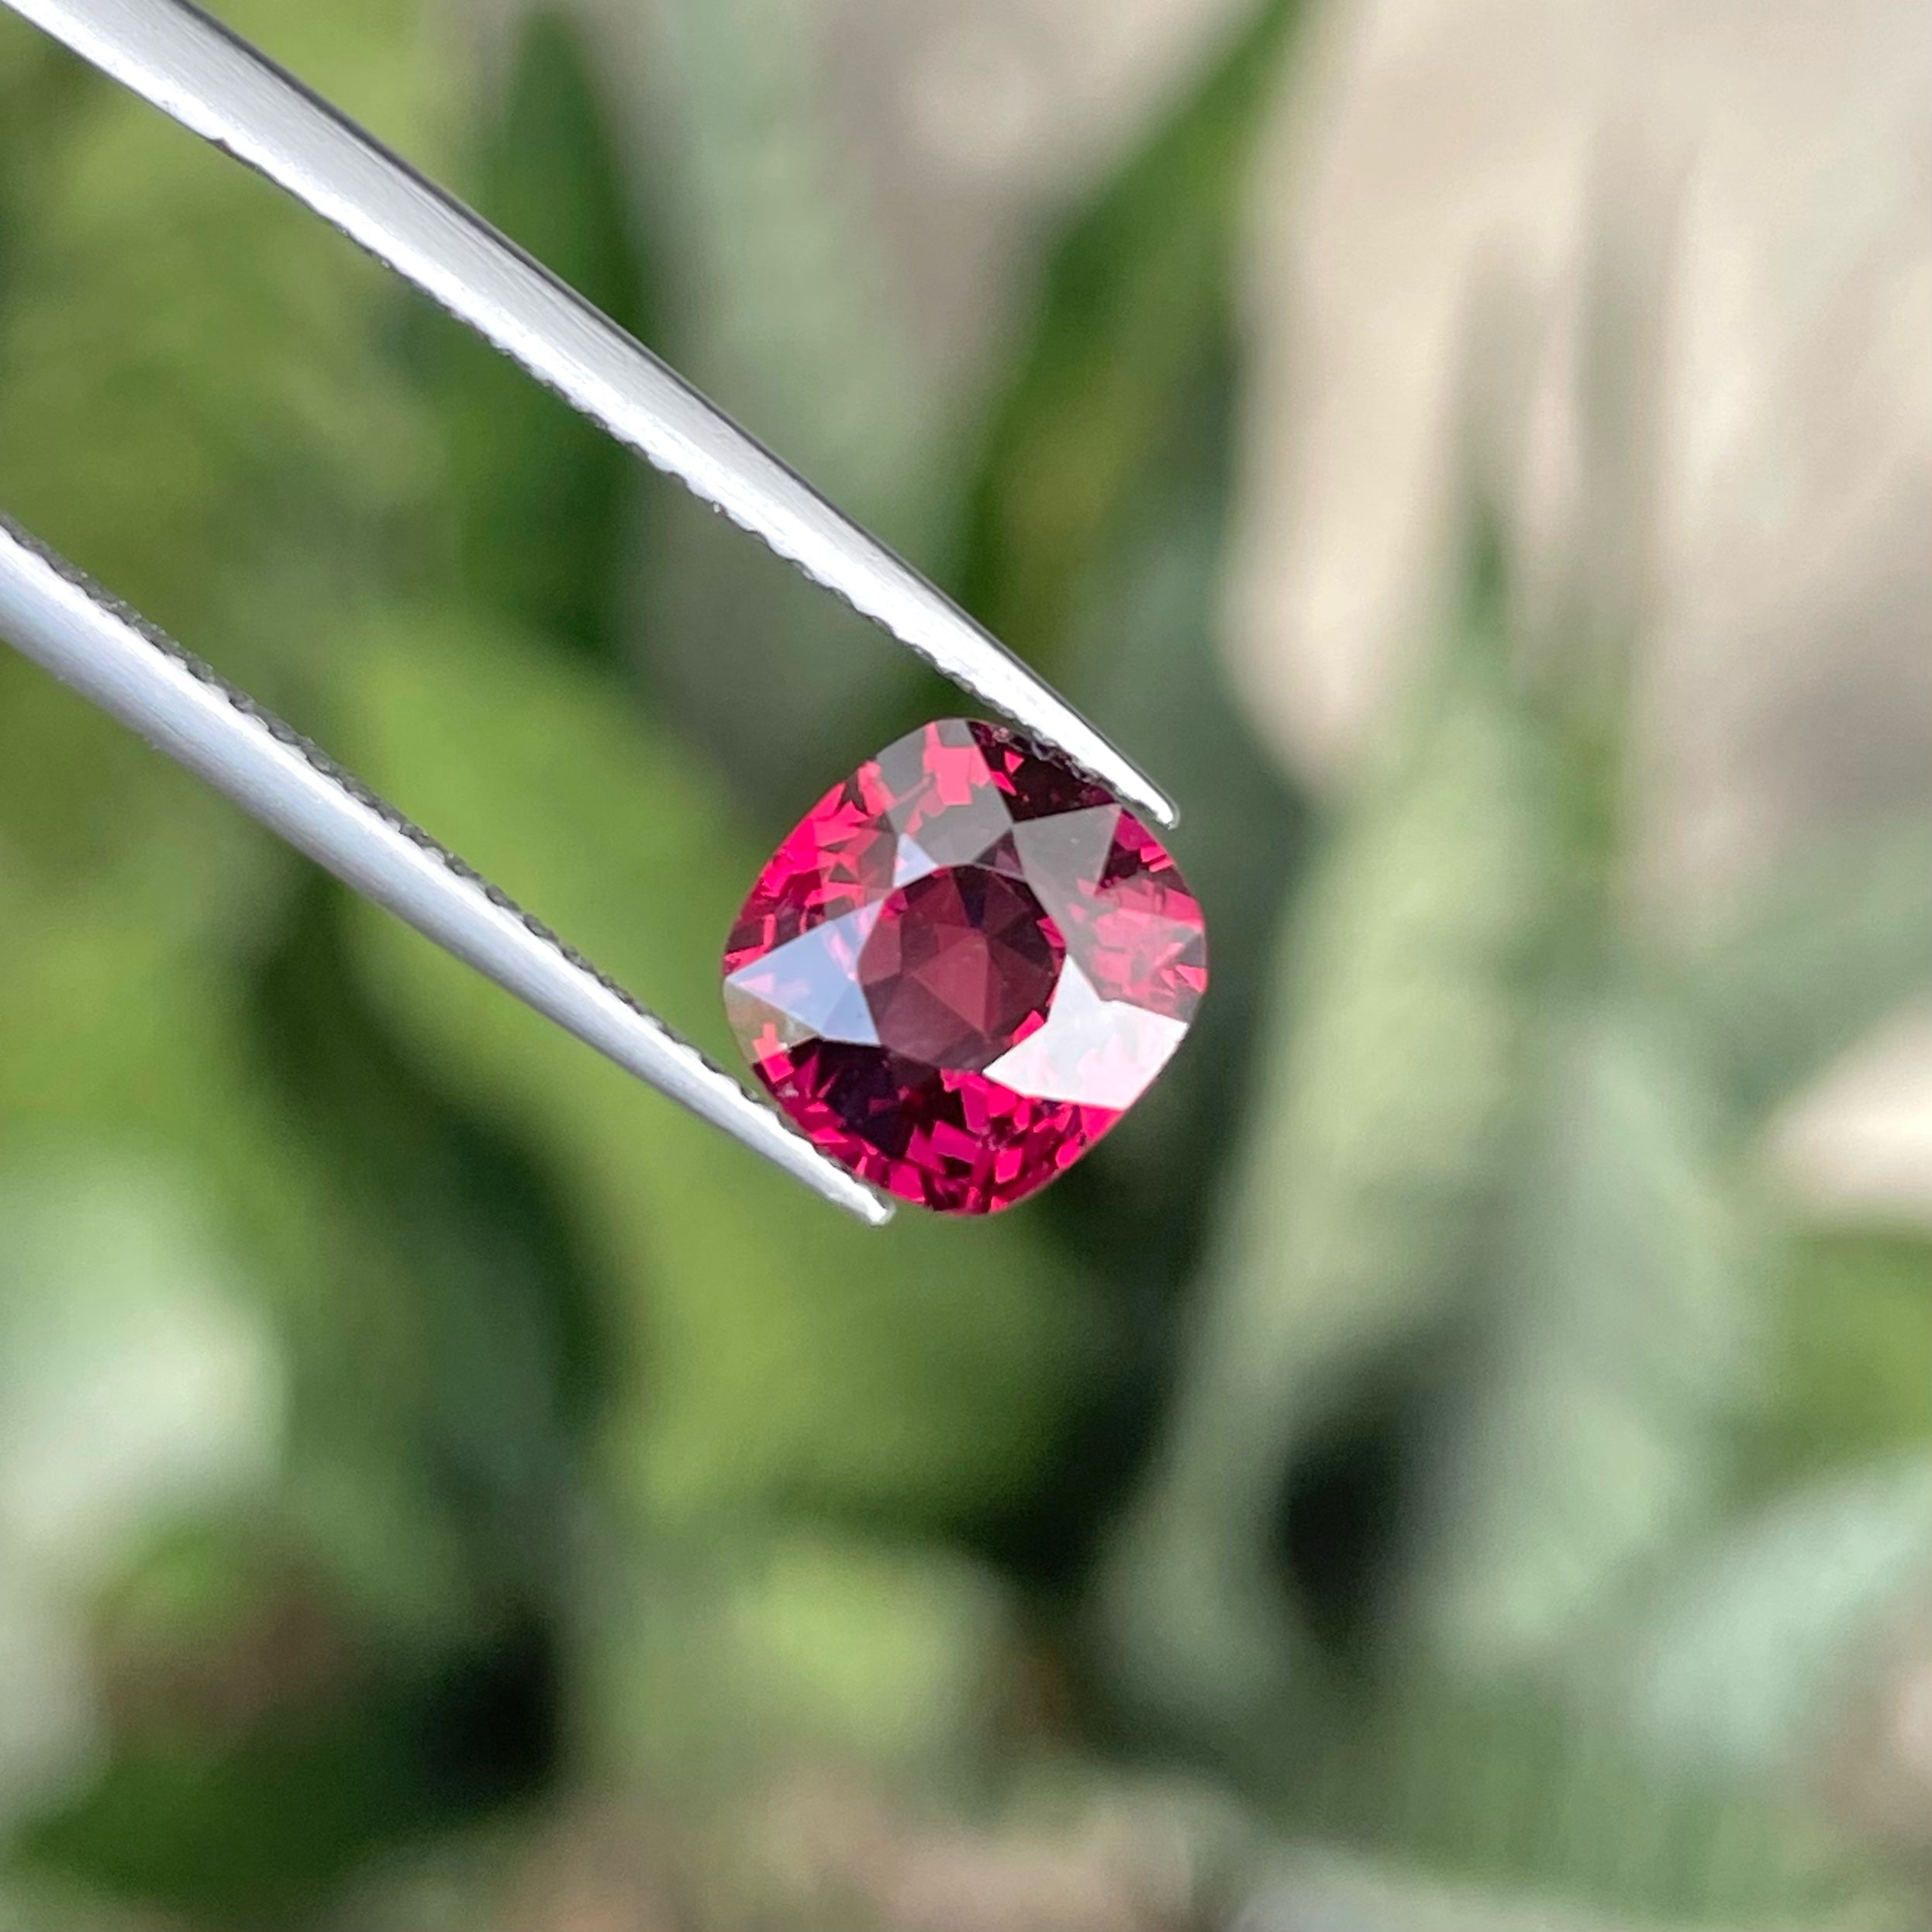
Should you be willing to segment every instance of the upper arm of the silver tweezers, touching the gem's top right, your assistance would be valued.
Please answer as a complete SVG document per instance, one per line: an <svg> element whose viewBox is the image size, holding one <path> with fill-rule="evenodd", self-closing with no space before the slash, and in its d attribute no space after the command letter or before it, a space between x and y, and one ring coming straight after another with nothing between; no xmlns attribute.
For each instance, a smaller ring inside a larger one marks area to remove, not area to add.
<svg viewBox="0 0 1932 1932"><path fill-rule="evenodd" d="M4 0L288 189L933 667L1163 825L1165 792L916 570L487 222L184 0Z"/></svg>

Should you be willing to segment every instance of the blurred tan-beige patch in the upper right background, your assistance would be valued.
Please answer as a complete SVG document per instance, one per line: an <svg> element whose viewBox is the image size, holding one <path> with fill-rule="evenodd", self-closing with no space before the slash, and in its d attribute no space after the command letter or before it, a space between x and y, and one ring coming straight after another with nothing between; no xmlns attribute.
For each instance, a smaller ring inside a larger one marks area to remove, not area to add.
<svg viewBox="0 0 1932 1932"><path fill-rule="evenodd" d="M1820 819L1922 796L1928 81L1909 0L1335 12L1252 216L1233 649L1285 757L1358 755L1493 381L1538 576L1625 535L1604 566L1644 634L1634 810L1671 916ZM1602 404L1636 413L1631 500L1605 504L1588 334L1633 278Z"/></svg>

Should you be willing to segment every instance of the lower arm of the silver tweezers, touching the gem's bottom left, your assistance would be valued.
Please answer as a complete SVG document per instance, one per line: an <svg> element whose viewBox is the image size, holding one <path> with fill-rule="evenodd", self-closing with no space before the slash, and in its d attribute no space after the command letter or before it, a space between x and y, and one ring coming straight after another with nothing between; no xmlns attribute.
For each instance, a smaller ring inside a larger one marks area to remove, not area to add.
<svg viewBox="0 0 1932 1932"><path fill-rule="evenodd" d="M873 1225L891 1206L286 724L0 518L0 638L618 1066Z"/></svg>

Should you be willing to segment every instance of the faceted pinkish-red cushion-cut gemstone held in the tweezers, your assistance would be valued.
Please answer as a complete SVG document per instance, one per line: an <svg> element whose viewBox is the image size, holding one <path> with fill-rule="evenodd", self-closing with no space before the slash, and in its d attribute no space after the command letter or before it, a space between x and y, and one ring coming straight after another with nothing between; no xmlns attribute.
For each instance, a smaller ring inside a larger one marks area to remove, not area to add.
<svg viewBox="0 0 1932 1932"><path fill-rule="evenodd" d="M1086 1153L1206 985L1200 904L1148 827L1059 753L958 719L833 786L724 949L724 1009L779 1105L952 1213Z"/></svg>

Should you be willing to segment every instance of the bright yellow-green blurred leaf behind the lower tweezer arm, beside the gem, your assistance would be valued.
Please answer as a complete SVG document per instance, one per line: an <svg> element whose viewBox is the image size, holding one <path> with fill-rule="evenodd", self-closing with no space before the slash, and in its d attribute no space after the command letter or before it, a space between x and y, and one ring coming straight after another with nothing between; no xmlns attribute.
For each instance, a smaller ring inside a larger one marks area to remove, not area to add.
<svg viewBox="0 0 1932 1932"><path fill-rule="evenodd" d="M371 632L338 674L352 769L736 1057L717 958L757 852L607 684L429 620ZM354 952L437 1082L541 1155L612 1285L630 1497L933 1519L1007 1501L1037 1464L1090 1331L1026 1211L867 1233L386 914L357 908Z"/></svg>

